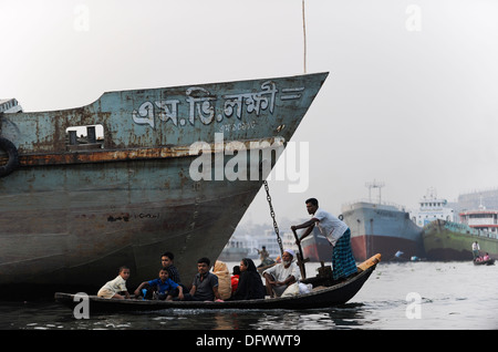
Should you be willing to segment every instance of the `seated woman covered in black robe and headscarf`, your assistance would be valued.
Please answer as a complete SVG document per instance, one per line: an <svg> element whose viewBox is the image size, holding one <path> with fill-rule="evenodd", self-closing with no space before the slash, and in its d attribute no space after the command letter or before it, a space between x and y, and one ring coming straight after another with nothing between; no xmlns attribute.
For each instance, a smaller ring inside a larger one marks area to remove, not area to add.
<svg viewBox="0 0 498 352"><path fill-rule="evenodd" d="M243 258L240 260L240 278L237 291L231 300L251 300L264 298L266 289L262 284L261 276L256 269L252 259Z"/></svg>

